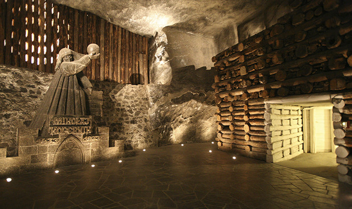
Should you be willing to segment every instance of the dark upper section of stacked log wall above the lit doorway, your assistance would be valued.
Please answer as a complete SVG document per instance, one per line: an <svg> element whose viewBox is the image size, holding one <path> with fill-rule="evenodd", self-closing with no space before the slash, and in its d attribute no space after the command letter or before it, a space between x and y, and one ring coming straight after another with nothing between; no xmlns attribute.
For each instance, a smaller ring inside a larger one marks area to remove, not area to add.
<svg viewBox="0 0 352 209"><path fill-rule="evenodd" d="M218 100L352 88L352 2L298 2L278 24L212 57Z"/></svg>

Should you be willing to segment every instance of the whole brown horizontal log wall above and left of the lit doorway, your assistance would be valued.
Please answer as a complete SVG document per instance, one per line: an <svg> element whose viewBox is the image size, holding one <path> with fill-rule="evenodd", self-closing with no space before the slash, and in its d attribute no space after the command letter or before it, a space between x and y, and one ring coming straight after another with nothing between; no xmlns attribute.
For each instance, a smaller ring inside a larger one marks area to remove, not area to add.
<svg viewBox="0 0 352 209"><path fill-rule="evenodd" d="M352 2L296 0L291 7L277 24L212 57L220 150L266 160L263 146L252 143L266 137L264 125L254 125L264 123L264 101L351 91Z"/></svg>

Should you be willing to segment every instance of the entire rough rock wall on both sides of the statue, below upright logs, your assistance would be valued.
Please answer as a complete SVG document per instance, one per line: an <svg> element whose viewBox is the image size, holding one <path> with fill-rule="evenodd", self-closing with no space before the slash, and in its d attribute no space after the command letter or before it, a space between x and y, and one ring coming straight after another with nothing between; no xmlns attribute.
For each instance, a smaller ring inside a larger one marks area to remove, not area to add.
<svg viewBox="0 0 352 209"><path fill-rule="evenodd" d="M110 142L124 140L126 149L210 141L216 126L211 89L214 70L194 66L173 72L170 85L126 85L91 81L103 92L103 116L93 127L109 127ZM16 130L25 128L43 99L53 74L0 66L0 147L17 155Z"/></svg>

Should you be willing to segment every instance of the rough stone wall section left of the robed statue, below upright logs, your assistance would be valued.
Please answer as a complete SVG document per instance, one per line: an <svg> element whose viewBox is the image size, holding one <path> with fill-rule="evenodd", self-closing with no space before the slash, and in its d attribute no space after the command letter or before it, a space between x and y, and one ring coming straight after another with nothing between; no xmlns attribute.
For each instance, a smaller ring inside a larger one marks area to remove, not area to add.
<svg viewBox="0 0 352 209"><path fill-rule="evenodd" d="M16 130L30 124L53 74L0 65L0 147L17 155Z"/></svg>

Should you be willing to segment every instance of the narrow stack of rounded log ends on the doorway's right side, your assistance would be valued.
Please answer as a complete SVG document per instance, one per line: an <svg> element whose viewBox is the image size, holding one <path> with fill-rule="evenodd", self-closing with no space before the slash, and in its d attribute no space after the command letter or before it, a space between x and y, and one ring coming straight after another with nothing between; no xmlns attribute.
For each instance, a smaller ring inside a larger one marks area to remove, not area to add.
<svg viewBox="0 0 352 209"><path fill-rule="evenodd" d="M333 99L334 143L339 181L352 184L352 94Z"/></svg>

